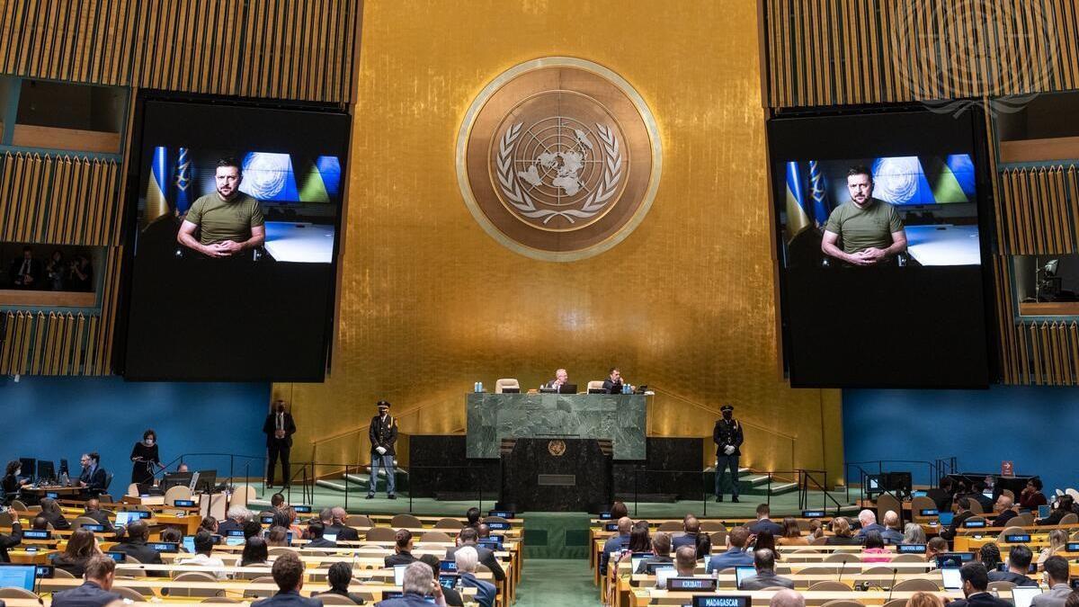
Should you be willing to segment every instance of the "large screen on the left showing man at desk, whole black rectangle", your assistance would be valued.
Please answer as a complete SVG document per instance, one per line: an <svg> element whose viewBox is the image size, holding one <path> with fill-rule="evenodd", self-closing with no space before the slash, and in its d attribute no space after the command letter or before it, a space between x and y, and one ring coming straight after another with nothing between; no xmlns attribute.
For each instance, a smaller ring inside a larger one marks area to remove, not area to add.
<svg viewBox="0 0 1079 607"><path fill-rule="evenodd" d="M121 373L322 380L347 116L151 98L138 119Z"/></svg>

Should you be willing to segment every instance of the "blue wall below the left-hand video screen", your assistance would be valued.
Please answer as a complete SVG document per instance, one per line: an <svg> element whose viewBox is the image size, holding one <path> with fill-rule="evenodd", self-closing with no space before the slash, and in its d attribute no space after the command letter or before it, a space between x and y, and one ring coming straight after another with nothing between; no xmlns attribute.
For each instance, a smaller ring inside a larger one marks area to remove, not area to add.
<svg viewBox="0 0 1079 607"><path fill-rule="evenodd" d="M162 463L187 453L262 457L262 420L270 403L269 383L125 382L118 377L26 377L0 379L0 466L33 457L59 463L67 458L77 474L85 451L101 454L101 466L115 475L110 490L122 494L131 482L132 446L153 428ZM236 474L243 474L237 460ZM228 475L229 458L189 460L192 470L217 469ZM261 460L251 475L261 475Z"/></svg>

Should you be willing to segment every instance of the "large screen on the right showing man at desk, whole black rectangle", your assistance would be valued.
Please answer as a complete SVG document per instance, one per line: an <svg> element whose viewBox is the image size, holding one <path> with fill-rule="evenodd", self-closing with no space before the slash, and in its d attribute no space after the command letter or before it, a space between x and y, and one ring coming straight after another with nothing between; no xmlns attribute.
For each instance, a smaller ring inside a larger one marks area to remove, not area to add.
<svg viewBox="0 0 1079 607"><path fill-rule="evenodd" d="M989 355L976 112L768 123L795 387L981 387Z"/></svg>

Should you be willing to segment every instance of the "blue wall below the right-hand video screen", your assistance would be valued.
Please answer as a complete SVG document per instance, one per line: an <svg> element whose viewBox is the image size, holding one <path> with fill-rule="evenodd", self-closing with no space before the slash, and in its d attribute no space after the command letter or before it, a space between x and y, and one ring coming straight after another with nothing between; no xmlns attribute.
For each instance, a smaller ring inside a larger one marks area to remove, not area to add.
<svg viewBox="0 0 1079 607"><path fill-rule="evenodd" d="M846 461L933 460L955 456L964 472L1039 474L1048 494L1079 486L1071 443L1079 436L1079 390L844 390ZM893 464L926 483L925 467ZM857 482L851 472L851 482Z"/></svg>

